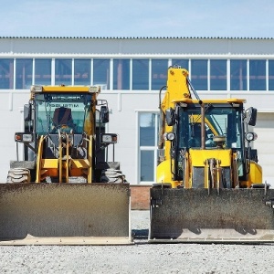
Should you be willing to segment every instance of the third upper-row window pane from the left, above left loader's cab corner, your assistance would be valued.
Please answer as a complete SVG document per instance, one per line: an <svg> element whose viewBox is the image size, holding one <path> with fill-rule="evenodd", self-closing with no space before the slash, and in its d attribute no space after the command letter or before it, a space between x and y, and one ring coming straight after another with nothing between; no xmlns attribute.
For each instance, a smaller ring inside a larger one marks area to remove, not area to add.
<svg viewBox="0 0 274 274"><path fill-rule="evenodd" d="M35 84L51 84L51 59L35 59Z"/></svg>

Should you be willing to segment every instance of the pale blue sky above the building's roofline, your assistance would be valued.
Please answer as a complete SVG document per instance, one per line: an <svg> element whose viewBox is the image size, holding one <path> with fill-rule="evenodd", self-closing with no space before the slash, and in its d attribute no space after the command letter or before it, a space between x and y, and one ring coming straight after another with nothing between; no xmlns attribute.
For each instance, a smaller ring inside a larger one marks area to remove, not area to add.
<svg viewBox="0 0 274 274"><path fill-rule="evenodd" d="M273 0L0 0L0 37L274 37Z"/></svg>

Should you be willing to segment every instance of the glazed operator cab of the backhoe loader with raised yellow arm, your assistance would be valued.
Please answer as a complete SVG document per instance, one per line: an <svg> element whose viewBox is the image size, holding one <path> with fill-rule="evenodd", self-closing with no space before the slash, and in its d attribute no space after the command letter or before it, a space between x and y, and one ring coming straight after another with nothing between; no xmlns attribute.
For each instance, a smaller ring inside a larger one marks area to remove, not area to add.
<svg viewBox="0 0 274 274"><path fill-rule="evenodd" d="M186 150L202 149L202 115L199 103L176 105L174 151L178 159ZM231 149L237 153L238 175L245 172L245 132L243 105L226 102L205 103L205 149Z"/></svg>

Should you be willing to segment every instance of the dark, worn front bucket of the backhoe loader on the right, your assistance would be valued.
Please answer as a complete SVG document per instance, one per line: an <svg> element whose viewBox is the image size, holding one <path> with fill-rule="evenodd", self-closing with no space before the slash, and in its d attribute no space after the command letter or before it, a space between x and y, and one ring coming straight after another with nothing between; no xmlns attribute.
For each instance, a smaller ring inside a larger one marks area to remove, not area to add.
<svg viewBox="0 0 274 274"><path fill-rule="evenodd" d="M150 243L274 242L274 189L151 189Z"/></svg>

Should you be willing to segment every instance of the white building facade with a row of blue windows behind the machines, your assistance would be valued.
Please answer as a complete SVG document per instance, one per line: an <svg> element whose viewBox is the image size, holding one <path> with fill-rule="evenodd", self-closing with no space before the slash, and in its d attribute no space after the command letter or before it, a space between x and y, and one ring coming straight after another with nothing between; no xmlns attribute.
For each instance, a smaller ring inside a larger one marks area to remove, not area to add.
<svg viewBox="0 0 274 274"><path fill-rule="evenodd" d="M201 99L246 99L258 109L253 147L274 185L274 39L197 37L0 37L0 182L16 160L30 86L65 84L101 86L106 131L119 134L115 161L131 184L153 184L159 90L172 65L189 70Z"/></svg>

